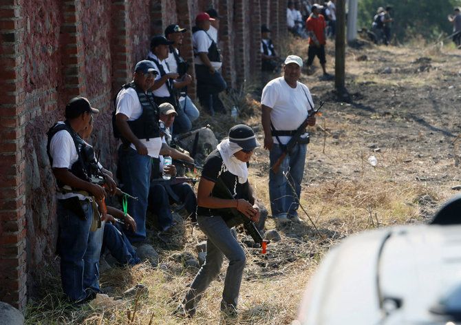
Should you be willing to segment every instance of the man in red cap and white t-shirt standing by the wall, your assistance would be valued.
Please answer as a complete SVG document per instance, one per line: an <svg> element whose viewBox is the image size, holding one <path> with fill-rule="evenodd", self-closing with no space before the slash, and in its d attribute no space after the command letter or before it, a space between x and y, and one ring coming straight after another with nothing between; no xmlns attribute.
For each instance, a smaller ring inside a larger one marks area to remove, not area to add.
<svg viewBox="0 0 461 325"><path fill-rule="evenodd" d="M200 105L211 115L215 112L226 113L226 108L218 95L227 88L226 81L218 72L222 66L221 54L219 54L216 42L208 34L213 20L206 12L200 12L192 28L197 97Z"/></svg>

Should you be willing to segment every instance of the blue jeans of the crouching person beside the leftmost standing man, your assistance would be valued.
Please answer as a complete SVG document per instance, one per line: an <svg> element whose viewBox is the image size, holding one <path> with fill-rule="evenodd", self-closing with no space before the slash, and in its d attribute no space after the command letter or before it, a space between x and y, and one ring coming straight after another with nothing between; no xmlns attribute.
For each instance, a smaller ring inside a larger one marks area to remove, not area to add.
<svg viewBox="0 0 461 325"><path fill-rule="evenodd" d="M125 226L124 226L125 227ZM136 255L125 233L123 233L120 224L111 224L110 222L104 224L104 240L103 249L109 249L110 253L120 264L139 264L141 260Z"/></svg>

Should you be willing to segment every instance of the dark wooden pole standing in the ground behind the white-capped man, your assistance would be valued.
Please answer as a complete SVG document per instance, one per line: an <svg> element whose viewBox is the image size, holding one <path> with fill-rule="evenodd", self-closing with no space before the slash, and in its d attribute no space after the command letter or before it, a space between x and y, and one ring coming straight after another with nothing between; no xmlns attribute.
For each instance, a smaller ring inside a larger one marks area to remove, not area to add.
<svg viewBox="0 0 461 325"><path fill-rule="evenodd" d="M351 0L350 0L351 1ZM349 97L345 89L345 0L336 1L336 45L334 87L340 101Z"/></svg>

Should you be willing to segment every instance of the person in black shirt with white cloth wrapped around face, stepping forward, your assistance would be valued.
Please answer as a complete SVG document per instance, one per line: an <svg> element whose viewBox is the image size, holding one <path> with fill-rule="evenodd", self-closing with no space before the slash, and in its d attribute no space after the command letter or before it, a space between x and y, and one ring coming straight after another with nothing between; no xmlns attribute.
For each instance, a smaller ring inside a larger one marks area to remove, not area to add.
<svg viewBox="0 0 461 325"><path fill-rule="evenodd" d="M237 313L246 256L230 227L235 224L235 209L250 220L259 220L257 199L248 182L248 161L258 146L253 129L235 125L229 130L228 138L222 140L204 162L197 189L197 222L207 237L206 260L177 310L184 316L195 314L204 291L219 274L224 256L229 266L221 311L233 316Z"/></svg>

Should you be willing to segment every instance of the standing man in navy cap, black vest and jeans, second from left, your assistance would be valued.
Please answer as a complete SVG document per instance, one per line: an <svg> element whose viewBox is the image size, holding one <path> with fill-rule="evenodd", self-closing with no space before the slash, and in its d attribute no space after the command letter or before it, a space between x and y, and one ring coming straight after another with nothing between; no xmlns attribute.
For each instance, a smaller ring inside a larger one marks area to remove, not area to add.
<svg viewBox="0 0 461 325"><path fill-rule="evenodd" d="M124 85L116 98L116 127L123 143L118 151L120 174L125 191L138 197L138 201L128 201L128 213L136 221L137 229L136 233L124 229L131 242L146 238L151 160L158 163L162 147L158 125L160 112L150 91L157 75L152 61L138 62L133 81Z"/></svg>

